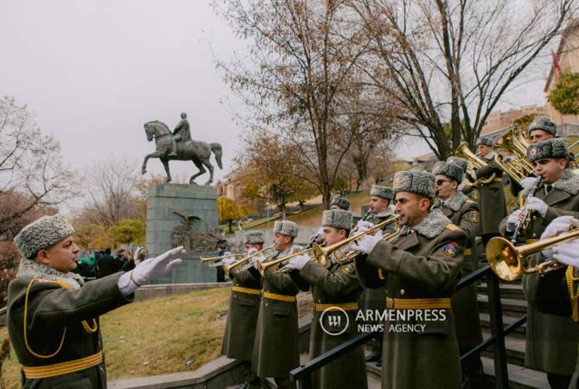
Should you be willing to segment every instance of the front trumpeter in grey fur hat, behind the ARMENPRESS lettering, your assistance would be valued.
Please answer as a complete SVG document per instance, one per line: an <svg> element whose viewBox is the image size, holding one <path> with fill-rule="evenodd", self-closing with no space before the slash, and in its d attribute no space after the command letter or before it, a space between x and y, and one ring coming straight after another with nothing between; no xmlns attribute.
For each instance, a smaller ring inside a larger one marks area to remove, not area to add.
<svg viewBox="0 0 579 389"><path fill-rule="evenodd" d="M376 234L352 245L368 254L356 259L362 284L380 287L385 282L387 306L402 315L401 320L384 325L382 387L460 388L450 297L460 274L466 235L440 210L429 211L434 198L431 173L395 173L394 194L400 232L389 241ZM385 280L376 269L383 271ZM411 325L413 331L397 330L399 324Z"/></svg>

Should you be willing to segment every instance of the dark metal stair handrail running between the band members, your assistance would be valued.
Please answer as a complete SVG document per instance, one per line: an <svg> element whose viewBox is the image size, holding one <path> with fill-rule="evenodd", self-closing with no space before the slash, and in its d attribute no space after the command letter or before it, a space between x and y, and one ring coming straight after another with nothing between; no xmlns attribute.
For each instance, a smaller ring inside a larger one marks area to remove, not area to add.
<svg viewBox="0 0 579 389"><path fill-rule="evenodd" d="M482 266L471 274L468 274L468 276L461 278L456 284L456 291L466 288L468 285L477 282L482 277L488 277L491 336L489 339L484 340L482 343L479 343L477 346L461 355L460 360L463 361L464 359L471 357L471 355L485 350L485 348L494 344L493 356L496 387L501 389L508 388L507 354L505 350L504 337L519 326L523 325L527 320L527 316L522 316L516 322L507 328L504 328L503 311L500 299L500 280L499 277L497 277L490 269L489 265ZM354 336L352 339L347 340L347 342L326 351L324 354L318 355L316 358L313 358L305 364L300 365L298 368L291 370L290 380L294 382L297 381L298 389L312 388L312 373L314 371L320 369L329 362L334 361L334 359L339 358L343 353L368 342L368 340L372 339L373 336L373 332L361 333Z"/></svg>

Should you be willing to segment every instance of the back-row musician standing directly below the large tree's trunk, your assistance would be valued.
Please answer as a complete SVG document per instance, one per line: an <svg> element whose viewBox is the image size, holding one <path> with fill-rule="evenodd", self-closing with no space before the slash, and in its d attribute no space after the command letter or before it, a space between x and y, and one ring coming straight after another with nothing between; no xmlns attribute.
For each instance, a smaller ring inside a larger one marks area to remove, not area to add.
<svg viewBox="0 0 579 389"><path fill-rule="evenodd" d="M477 140L477 156L488 164L474 171L474 177L481 191L481 224L479 235L486 243L493 236L499 235L499 223L507 215L507 203L503 189L503 170L494 162L493 141L490 138ZM484 183L485 179L495 175L494 179Z"/></svg>

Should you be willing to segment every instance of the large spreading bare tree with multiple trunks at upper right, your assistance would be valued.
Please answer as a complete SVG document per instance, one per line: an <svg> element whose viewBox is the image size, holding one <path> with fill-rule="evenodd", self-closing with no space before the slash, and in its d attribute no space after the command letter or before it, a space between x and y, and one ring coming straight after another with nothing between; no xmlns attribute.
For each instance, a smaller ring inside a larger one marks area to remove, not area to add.
<svg viewBox="0 0 579 389"><path fill-rule="evenodd" d="M369 85L400 105L398 118L441 159L461 139L474 144L489 113L536 75L533 61L577 13L575 0L350 4L373 41L373 55L359 63Z"/></svg>

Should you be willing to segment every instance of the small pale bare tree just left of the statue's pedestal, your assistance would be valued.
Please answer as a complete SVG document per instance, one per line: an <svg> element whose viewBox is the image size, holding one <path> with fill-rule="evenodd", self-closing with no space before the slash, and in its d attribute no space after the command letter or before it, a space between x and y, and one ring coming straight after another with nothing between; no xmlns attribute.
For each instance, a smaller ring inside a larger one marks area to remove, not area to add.
<svg viewBox="0 0 579 389"><path fill-rule="evenodd" d="M110 157L97 161L89 169L86 182L90 207L102 225L112 226L120 219L138 218L140 207L136 163Z"/></svg>

